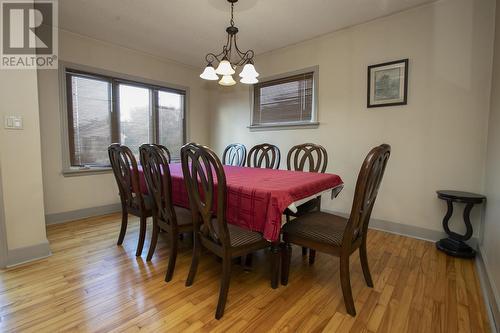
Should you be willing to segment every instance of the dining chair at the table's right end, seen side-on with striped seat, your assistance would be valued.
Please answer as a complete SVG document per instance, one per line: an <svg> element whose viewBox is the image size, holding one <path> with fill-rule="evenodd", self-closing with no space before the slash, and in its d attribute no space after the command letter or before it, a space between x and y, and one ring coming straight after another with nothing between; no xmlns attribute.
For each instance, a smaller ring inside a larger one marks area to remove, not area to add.
<svg viewBox="0 0 500 333"><path fill-rule="evenodd" d="M366 156L358 174L349 218L317 211L299 216L284 225L281 275L283 285L288 283L291 243L337 256L340 258L340 284L345 307L351 316L356 315L349 274L349 257L359 249L366 284L373 287L368 266L366 237L373 205L390 154L391 147L382 144L373 148Z"/></svg>

